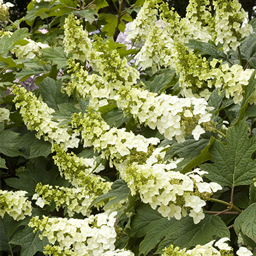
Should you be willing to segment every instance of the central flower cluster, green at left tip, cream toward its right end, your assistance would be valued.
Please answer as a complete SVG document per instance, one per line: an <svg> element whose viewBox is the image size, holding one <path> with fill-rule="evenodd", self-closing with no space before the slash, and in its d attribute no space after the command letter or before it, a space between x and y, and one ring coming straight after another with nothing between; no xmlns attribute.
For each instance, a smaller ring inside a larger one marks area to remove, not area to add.
<svg viewBox="0 0 256 256"><path fill-rule="evenodd" d="M99 113L88 109L84 118L80 114L74 114L72 125L81 125L81 136L84 140L84 147L93 145L95 150L102 153L102 157L120 159L130 154L132 148L138 152L147 152L150 144L156 145L157 138L145 138L140 134L135 136L133 132L126 132L124 128L111 128L104 122ZM108 131L109 130L109 131Z"/></svg>

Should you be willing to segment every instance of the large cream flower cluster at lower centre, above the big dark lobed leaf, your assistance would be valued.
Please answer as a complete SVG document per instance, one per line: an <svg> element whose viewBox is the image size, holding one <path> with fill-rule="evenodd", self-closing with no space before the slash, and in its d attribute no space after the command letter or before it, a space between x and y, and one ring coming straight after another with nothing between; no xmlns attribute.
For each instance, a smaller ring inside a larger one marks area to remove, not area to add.
<svg viewBox="0 0 256 256"><path fill-rule="evenodd" d="M163 163L162 149L154 150L145 164L134 162L121 169L122 179L127 182L132 195L139 193L142 202L150 204L153 209L159 206L157 211L163 217L180 220L189 211L194 223L199 223L204 219L202 207L205 200L221 186L216 182L204 182L201 175L205 172L199 168L186 174L172 171L181 159Z"/></svg>

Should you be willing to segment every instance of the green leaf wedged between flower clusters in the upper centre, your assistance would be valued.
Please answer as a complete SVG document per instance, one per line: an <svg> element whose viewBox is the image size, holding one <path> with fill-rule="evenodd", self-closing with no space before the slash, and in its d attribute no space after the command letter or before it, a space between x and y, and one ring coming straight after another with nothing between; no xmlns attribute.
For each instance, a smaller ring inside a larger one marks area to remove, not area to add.
<svg viewBox="0 0 256 256"><path fill-rule="evenodd" d="M175 76L175 69L171 69L169 72L164 72L163 74L154 77L153 81L147 82L146 88L150 92L155 92L161 94L167 88L173 86L171 84L173 77Z"/></svg>

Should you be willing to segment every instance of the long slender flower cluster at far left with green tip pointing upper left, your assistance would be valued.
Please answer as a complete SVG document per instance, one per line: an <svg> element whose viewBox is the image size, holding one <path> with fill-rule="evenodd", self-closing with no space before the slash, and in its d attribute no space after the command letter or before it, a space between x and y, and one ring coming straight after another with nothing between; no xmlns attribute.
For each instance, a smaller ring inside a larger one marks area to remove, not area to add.
<svg viewBox="0 0 256 256"><path fill-rule="evenodd" d="M45 102L20 85L12 86L12 93L15 95L13 102L16 109L20 108L20 115L28 129L37 132L36 138L40 139L42 136L46 141L63 143L65 147L78 146L76 132L70 131L68 126L60 127L57 122L52 121L51 114L54 109L49 108Z"/></svg>

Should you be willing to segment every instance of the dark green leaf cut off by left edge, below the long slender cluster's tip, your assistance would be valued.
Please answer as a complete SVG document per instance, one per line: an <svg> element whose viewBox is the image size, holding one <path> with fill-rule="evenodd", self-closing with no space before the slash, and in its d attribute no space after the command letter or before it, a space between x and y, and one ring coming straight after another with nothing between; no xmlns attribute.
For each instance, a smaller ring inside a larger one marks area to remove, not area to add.
<svg viewBox="0 0 256 256"><path fill-rule="evenodd" d="M6 156L20 156L17 144L20 140L20 134L12 131L3 131L0 133L0 153Z"/></svg>

